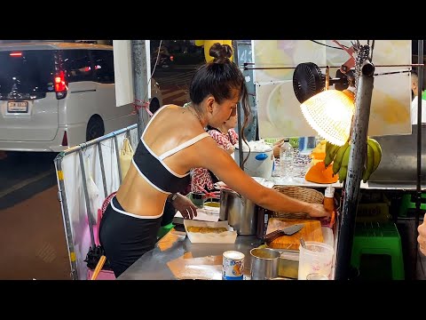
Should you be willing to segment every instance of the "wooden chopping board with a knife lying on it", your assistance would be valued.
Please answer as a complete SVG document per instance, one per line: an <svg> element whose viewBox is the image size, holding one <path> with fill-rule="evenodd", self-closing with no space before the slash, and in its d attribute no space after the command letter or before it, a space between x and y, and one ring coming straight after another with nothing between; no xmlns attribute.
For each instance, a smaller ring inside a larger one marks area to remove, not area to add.
<svg viewBox="0 0 426 320"><path fill-rule="evenodd" d="M324 242L322 235L321 222L319 220L303 220L303 219L287 219L287 218L271 218L268 221L268 228L266 234L275 230L286 228L295 224L303 223L304 228L291 236L280 236L268 244L273 249L289 249L299 250L300 238L303 237L304 241L318 241Z"/></svg>

